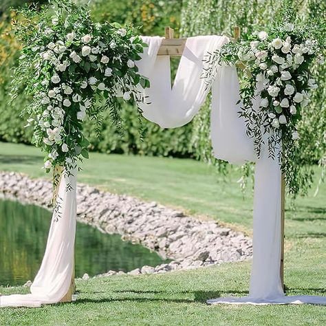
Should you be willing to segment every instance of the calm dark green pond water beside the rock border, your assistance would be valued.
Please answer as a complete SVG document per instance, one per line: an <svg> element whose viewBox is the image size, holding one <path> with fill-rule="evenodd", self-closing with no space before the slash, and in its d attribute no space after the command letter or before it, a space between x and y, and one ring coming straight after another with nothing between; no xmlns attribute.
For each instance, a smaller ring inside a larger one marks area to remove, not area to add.
<svg viewBox="0 0 326 326"><path fill-rule="evenodd" d="M0 285L21 285L38 271L51 213L33 205L0 200ZM127 272L142 265L158 265L162 259L148 249L77 224L76 277L108 270Z"/></svg>

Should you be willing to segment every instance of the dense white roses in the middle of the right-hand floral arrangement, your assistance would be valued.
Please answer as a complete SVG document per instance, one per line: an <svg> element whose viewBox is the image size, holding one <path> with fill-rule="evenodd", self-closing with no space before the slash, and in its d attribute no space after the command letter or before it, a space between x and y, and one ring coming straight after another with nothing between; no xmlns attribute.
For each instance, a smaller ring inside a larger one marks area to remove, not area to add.
<svg viewBox="0 0 326 326"><path fill-rule="evenodd" d="M283 30L290 33L294 26L285 23ZM237 55L239 61L247 61L248 65L257 68L256 80L261 85L261 91L255 96L261 95L259 107L269 112L270 125L278 129L291 120L290 116L297 114L298 107L309 104L310 91L318 87L314 78L300 73L307 55L314 54L316 42L296 43L293 41L295 38L289 35L270 39L264 31L254 35L257 39L250 41L250 47L240 47ZM296 83L294 78L302 83ZM307 89L301 89L304 85ZM298 139L297 133L292 135L292 139Z"/></svg>

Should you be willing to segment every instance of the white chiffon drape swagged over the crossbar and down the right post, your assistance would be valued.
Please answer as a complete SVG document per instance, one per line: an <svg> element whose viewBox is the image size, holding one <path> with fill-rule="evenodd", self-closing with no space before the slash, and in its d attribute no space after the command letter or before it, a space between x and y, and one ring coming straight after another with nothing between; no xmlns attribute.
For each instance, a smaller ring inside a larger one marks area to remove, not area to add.
<svg viewBox="0 0 326 326"><path fill-rule="evenodd" d="M169 56L157 56L160 37L143 37L149 45L138 62L140 73L149 78L144 90L143 115L163 128L180 127L190 122L203 104L209 89L201 78L204 56L228 42L225 36L188 38L171 87ZM213 81L210 135L215 157L233 164L256 162L254 182L253 261L249 295L242 298L217 298L208 303L318 303L326 297L285 296L280 279L281 261L281 170L278 160L268 158L263 146L259 160L246 125L239 118L239 80L235 67L219 67ZM259 98L254 101L257 108Z"/></svg>

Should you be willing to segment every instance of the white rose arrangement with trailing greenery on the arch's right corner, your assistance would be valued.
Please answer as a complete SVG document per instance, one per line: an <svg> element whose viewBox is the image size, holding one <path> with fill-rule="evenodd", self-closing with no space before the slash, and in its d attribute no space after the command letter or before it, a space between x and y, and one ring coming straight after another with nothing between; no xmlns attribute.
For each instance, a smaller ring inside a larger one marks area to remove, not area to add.
<svg viewBox="0 0 326 326"><path fill-rule="evenodd" d="M293 149L300 137L297 124L318 87L310 74L317 54L318 42L309 31L285 22L269 32L254 32L246 40L227 43L206 58L204 78L208 85L219 65L242 68L239 116L246 120L258 156L261 145L268 142L269 156L279 160L290 192L294 186L290 168ZM255 99L259 100L257 109L252 105Z"/></svg>

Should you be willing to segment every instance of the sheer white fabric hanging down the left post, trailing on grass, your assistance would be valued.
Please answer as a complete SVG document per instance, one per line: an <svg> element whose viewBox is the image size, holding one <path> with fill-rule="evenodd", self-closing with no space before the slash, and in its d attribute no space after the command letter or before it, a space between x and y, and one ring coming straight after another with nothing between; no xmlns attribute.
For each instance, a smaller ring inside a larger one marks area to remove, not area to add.
<svg viewBox="0 0 326 326"><path fill-rule="evenodd" d="M67 293L72 279L76 233L76 171L61 179L58 191L60 215L54 212L47 246L30 294L0 296L0 307L40 307L57 303ZM72 186L67 191L67 185Z"/></svg>

